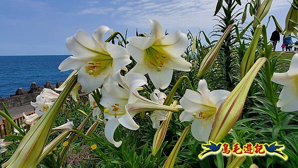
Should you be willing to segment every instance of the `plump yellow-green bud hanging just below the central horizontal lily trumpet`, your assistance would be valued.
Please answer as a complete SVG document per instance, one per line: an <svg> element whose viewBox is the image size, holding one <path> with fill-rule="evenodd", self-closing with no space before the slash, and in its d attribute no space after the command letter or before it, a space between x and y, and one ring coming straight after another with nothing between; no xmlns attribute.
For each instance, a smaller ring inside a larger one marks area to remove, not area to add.
<svg viewBox="0 0 298 168"><path fill-rule="evenodd" d="M174 101L173 104L171 104L172 107L174 107L177 104L177 101ZM169 126L169 122L172 116L172 112L169 111L168 115L165 120L162 121L160 126L158 127L154 138L153 138L153 143L152 143L152 155L155 156L156 153L158 152L161 144L163 143L167 127Z"/></svg>

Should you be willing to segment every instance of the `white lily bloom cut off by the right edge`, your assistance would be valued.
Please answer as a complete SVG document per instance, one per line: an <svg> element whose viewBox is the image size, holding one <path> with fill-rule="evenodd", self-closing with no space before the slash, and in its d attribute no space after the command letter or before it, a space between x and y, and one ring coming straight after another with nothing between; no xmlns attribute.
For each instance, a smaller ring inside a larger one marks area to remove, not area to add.
<svg viewBox="0 0 298 168"><path fill-rule="evenodd" d="M279 95L277 106L282 111L298 110L298 54L292 58L289 71L286 73L274 73L271 81L285 85Z"/></svg>

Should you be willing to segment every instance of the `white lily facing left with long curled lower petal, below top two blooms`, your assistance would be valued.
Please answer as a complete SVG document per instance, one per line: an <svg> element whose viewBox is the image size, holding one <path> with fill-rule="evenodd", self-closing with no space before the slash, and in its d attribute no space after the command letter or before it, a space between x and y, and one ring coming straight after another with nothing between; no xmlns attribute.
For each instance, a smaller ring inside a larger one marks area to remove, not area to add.
<svg viewBox="0 0 298 168"><path fill-rule="evenodd" d="M118 77L114 79L122 87L118 84L104 85L101 89L100 104L106 108L104 118L108 119L104 129L105 137L118 148L122 141L116 142L114 140L114 132L119 124L131 130L139 129L139 125L133 120L136 113L126 112L125 106L129 102L132 92L147 84L147 79L144 75L138 73L129 73L125 77L120 75L120 71L116 74Z"/></svg>

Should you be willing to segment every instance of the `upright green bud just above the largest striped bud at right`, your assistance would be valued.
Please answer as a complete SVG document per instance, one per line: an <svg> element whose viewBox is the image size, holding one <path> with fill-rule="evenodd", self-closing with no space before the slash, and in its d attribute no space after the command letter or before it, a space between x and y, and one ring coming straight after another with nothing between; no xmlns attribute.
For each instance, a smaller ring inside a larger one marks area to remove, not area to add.
<svg viewBox="0 0 298 168"><path fill-rule="evenodd" d="M257 28L253 34L252 40L250 42L250 45L249 45L248 49L246 50L244 57L241 61L241 65L240 65L241 79L243 79L245 74L253 66L256 48L257 48L261 33L262 33L262 25L260 24L257 26Z"/></svg>

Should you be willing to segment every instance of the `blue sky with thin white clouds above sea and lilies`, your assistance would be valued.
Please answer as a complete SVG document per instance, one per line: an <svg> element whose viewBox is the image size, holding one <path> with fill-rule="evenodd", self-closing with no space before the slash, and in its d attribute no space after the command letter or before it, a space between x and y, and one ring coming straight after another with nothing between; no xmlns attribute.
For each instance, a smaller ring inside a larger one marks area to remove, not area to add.
<svg viewBox="0 0 298 168"><path fill-rule="evenodd" d="M245 0L246 1L246 0ZM211 32L217 0L0 0L0 55L69 55L65 39L100 25L134 36L157 19L168 32ZM269 15L285 26L291 4L273 0ZM244 7L244 6L243 6ZM247 22L252 17L247 15ZM267 23L268 17L263 20ZM268 36L275 29L268 26ZM281 43L278 44L280 48Z"/></svg>

